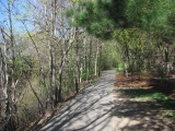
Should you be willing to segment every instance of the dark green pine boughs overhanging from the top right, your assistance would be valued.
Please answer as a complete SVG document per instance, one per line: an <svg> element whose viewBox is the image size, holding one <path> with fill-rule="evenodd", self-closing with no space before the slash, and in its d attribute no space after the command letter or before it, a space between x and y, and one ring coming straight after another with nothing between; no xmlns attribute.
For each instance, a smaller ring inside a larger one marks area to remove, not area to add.
<svg viewBox="0 0 175 131"><path fill-rule="evenodd" d="M174 0L79 0L77 3L77 8L67 11L70 24L101 38L110 38L118 28L136 27L166 36L174 34Z"/></svg>

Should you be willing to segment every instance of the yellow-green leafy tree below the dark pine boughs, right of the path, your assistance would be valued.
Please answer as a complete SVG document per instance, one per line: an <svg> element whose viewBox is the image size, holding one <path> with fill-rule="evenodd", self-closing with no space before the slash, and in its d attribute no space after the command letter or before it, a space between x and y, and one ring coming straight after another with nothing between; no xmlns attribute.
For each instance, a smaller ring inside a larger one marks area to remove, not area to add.
<svg viewBox="0 0 175 131"><path fill-rule="evenodd" d="M118 41L117 53L127 63L129 72L151 69L148 61L154 57L156 45L150 34L138 28L116 29L114 38Z"/></svg>

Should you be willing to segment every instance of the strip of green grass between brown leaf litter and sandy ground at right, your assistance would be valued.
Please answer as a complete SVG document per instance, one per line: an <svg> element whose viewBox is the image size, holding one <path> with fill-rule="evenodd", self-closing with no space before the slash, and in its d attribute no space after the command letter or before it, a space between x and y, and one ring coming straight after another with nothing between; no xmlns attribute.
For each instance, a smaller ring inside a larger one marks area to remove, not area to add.
<svg viewBox="0 0 175 131"><path fill-rule="evenodd" d="M150 105L159 104L164 108L164 112L168 117L173 117L175 119L175 99L170 98L161 92L154 91L152 88L127 88L120 90L121 94L128 96L129 98L138 98L143 99L150 103Z"/></svg>

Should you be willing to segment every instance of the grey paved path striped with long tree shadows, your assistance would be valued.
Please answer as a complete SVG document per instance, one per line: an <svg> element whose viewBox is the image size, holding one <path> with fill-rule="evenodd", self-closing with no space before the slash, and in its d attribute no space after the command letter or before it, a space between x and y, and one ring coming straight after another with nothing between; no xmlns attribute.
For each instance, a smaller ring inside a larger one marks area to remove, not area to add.
<svg viewBox="0 0 175 131"><path fill-rule="evenodd" d="M40 131L114 131L114 82L115 70L105 71L97 82L71 99Z"/></svg>

